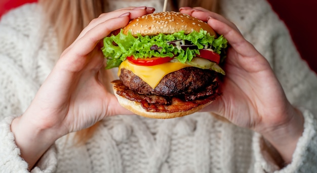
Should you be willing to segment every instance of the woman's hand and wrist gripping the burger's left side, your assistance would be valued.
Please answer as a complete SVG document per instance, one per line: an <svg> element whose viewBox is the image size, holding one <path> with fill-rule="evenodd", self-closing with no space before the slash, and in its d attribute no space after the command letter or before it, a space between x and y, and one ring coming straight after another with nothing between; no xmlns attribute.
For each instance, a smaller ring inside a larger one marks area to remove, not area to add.
<svg viewBox="0 0 317 173"><path fill-rule="evenodd" d="M12 122L16 143L29 167L63 135L87 128L106 116L131 114L105 88L101 43L129 20L153 11L131 7L102 14L62 53L31 105Z"/></svg>

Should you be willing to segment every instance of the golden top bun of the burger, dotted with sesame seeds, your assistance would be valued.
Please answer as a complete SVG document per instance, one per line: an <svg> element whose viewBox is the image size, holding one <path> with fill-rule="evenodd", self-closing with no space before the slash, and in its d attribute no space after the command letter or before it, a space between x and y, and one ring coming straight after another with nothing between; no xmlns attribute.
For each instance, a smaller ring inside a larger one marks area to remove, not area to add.
<svg viewBox="0 0 317 173"><path fill-rule="evenodd" d="M185 34L193 30L199 32L203 28L210 35L216 35L215 31L202 20L196 19L179 12L153 13L133 19L124 27L124 33L130 31L132 35L157 35L159 33L171 34L178 31L185 31Z"/></svg>

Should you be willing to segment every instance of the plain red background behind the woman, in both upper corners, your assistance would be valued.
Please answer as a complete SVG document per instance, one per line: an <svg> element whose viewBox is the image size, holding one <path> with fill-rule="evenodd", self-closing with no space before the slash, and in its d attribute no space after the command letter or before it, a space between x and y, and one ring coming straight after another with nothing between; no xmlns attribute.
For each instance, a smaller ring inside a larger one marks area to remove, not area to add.
<svg viewBox="0 0 317 173"><path fill-rule="evenodd" d="M302 58L317 72L317 1L267 0L288 26ZM36 0L1 0L0 16L11 8Z"/></svg>

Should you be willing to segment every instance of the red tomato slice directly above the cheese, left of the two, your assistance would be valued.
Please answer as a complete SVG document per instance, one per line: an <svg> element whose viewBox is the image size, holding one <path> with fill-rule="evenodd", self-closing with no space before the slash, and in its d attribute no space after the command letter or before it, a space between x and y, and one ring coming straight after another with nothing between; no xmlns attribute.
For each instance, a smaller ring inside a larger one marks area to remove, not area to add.
<svg viewBox="0 0 317 173"><path fill-rule="evenodd" d="M152 58L138 58L135 59L133 56L127 57L127 60L129 60L131 63L136 65L142 65L142 66L152 66L157 64L163 64L166 62L170 62L173 58L170 57L152 57Z"/></svg>

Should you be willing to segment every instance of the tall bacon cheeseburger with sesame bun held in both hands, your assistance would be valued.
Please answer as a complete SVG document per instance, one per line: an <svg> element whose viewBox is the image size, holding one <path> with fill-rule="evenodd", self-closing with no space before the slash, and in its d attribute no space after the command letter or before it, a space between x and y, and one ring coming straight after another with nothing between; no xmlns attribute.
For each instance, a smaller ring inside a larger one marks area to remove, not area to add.
<svg viewBox="0 0 317 173"><path fill-rule="evenodd" d="M221 96L219 66L227 40L202 20L178 12L133 19L103 40L106 69L118 67L113 91L128 110L175 118L201 110Z"/></svg>

